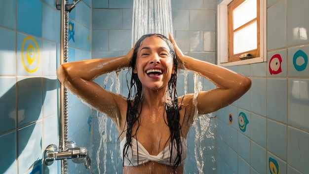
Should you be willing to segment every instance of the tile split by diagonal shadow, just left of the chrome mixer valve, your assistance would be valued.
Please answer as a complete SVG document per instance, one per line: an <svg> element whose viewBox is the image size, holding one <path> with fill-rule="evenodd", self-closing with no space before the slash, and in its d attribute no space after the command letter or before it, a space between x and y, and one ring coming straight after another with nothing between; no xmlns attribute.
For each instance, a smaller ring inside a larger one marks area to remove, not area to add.
<svg viewBox="0 0 309 174"><path fill-rule="evenodd" d="M18 171L25 173L42 159L42 122L19 129L17 134Z"/></svg>

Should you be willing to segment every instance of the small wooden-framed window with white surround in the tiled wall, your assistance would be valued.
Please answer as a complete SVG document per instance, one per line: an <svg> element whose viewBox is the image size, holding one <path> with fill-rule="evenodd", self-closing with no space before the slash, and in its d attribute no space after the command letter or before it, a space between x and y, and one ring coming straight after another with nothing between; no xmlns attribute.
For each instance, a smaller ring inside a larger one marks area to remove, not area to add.
<svg viewBox="0 0 309 174"><path fill-rule="evenodd" d="M219 65L267 60L266 0L223 0L218 4L217 24Z"/></svg>

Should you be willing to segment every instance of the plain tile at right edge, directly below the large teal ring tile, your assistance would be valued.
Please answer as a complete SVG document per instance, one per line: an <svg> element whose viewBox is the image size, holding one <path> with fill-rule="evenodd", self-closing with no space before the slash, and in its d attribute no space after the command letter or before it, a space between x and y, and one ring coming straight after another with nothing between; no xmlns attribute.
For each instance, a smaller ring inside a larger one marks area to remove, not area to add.
<svg viewBox="0 0 309 174"><path fill-rule="evenodd" d="M309 131L309 80L289 79L288 124Z"/></svg>

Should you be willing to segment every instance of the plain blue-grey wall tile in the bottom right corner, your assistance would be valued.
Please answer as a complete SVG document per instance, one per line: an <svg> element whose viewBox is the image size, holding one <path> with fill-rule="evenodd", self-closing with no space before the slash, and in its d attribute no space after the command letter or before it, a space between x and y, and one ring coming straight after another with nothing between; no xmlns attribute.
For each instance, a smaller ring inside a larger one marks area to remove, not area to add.
<svg viewBox="0 0 309 174"><path fill-rule="evenodd" d="M309 171L309 133L288 128L287 162L301 173Z"/></svg>

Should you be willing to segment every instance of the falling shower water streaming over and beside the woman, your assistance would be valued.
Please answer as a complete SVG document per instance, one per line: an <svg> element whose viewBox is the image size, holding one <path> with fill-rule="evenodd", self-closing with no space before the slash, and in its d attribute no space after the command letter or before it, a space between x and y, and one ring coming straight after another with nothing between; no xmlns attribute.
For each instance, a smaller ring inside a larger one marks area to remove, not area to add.
<svg viewBox="0 0 309 174"><path fill-rule="evenodd" d="M134 0L133 2L133 16L132 16L132 45L144 34L148 33L160 33L166 37L168 37L168 33L173 35L173 27L172 27L172 13L171 13L171 2L170 0ZM127 70L124 70L127 71ZM110 91L112 91L114 87L114 79L116 78L116 93L119 93L119 72L107 74L103 87L107 88L107 84L110 81ZM184 71L184 94L187 94L187 75L188 72ZM196 97L198 95L198 91L202 90L202 84L200 77L197 74L194 74L194 103L196 103ZM206 148L213 149L214 146L205 147L202 143L205 142L205 138L214 139L214 133L210 129L210 120L212 118L211 114L207 115L198 115L197 109L195 109L195 115L193 123L193 127L195 128L195 139L194 139L194 153L195 160L197 164L197 168L199 174L203 174L204 161L205 161L205 152ZM106 159L107 159L107 141L111 141L111 133L112 128L107 128L108 118L105 114L99 113L97 114L98 123L99 123L99 133L100 133L100 143L99 148L96 153L97 160L97 168L99 174L101 174L100 170L100 161L103 161L104 172L106 174ZM112 125L112 124L111 124ZM111 126L112 127L112 126ZM109 134L109 137L107 135ZM117 137L116 137L117 138ZM103 143L103 144L102 144ZM101 147L103 145L104 154L103 159L102 155L100 155ZM112 152L112 151L111 151ZM113 157L113 155L111 155ZM210 157L213 163L216 162L215 157ZM209 160L206 160L209 161ZM213 168L213 170L216 170Z"/></svg>

